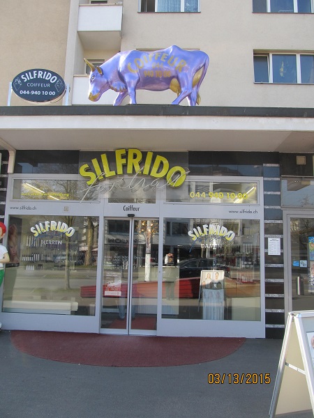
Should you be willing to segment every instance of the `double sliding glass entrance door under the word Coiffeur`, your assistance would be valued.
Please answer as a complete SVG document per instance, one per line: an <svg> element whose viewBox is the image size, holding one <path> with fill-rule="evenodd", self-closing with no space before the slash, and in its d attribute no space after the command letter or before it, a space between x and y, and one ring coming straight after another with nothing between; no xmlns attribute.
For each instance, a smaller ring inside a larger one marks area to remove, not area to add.
<svg viewBox="0 0 314 418"><path fill-rule="evenodd" d="M101 329L156 334L158 220L105 218Z"/></svg>

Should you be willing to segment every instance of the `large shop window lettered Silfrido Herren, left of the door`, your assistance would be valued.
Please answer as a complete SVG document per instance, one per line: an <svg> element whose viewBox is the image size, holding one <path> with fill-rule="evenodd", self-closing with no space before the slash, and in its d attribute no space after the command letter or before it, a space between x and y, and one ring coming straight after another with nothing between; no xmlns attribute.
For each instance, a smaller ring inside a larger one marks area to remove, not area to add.
<svg viewBox="0 0 314 418"><path fill-rule="evenodd" d="M98 217L10 216L3 311L95 314Z"/></svg>

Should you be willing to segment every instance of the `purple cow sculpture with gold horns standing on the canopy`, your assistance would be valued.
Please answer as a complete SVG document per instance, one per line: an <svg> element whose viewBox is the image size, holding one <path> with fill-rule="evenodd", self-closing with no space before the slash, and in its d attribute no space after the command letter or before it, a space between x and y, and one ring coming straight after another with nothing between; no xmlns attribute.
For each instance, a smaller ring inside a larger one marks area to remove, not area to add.
<svg viewBox="0 0 314 418"><path fill-rule="evenodd" d="M136 90L172 90L179 104L187 98L190 106L200 104L199 89L209 65L209 56L202 51L187 51L175 45L158 51L119 52L96 67L89 76L89 100L97 102L110 88L119 93L114 106L130 96L130 104L136 104Z"/></svg>

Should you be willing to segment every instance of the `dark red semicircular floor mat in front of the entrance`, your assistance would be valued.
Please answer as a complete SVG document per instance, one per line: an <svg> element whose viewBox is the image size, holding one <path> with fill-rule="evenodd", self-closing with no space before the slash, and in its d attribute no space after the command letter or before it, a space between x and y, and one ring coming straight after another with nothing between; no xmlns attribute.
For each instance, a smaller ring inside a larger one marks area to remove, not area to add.
<svg viewBox="0 0 314 418"><path fill-rule="evenodd" d="M133 336L13 331L15 348L43 359L94 366L179 366L232 354L245 338Z"/></svg>

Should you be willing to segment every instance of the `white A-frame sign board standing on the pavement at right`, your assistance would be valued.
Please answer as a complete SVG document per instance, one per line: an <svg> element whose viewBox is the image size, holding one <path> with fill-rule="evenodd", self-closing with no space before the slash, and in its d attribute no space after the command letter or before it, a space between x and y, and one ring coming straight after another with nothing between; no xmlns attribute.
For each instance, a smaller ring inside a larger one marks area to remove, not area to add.
<svg viewBox="0 0 314 418"><path fill-rule="evenodd" d="M313 336L314 311L290 312L271 399L271 418L292 412L314 412Z"/></svg>

